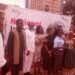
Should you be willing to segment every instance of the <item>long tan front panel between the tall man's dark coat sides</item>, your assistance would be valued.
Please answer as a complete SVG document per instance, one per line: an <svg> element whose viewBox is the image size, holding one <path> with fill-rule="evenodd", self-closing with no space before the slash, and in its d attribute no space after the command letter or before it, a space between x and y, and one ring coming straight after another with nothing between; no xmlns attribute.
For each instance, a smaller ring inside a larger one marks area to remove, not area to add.
<svg viewBox="0 0 75 75"><path fill-rule="evenodd" d="M13 63L19 64L19 48L20 48L20 40L19 40L19 34L17 30L13 30L14 33L14 51L13 51Z"/></svg>

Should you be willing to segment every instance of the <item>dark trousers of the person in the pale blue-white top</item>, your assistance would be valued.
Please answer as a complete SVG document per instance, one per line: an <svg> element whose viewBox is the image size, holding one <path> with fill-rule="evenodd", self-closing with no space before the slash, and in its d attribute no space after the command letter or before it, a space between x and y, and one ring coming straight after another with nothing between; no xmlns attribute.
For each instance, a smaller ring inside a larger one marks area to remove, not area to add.
<svg viewBox="0 0 75 75"><path fill-rule="evenodd" d="M60 50L53 51L53 75L60 75L58 71L62 69L63 52Z"/></svg>

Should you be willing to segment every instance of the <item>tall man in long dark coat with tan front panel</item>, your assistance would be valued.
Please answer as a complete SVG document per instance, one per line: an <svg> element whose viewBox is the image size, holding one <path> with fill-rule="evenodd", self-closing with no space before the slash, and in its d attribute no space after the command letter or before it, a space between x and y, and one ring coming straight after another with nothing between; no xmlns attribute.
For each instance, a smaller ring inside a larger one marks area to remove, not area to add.
<svg viewBox="0 0 75 75"><path fill-rule="evenodd" d="M23 51L25 50L25 40L23 34L23 20L16 20L16 28L9 33L7 50L9 53L11 75L19 75L23 64Z"/></svg>

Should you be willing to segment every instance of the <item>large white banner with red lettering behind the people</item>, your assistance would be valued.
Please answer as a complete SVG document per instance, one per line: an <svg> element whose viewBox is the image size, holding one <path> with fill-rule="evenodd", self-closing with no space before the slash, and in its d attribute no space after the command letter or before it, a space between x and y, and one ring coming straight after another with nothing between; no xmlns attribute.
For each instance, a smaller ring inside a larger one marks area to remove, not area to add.
<svg viewBox="0 0 75 75"><path fill-rule="evenodd" d="M55 13L48 13L43 11L23 9L17 6L8 5L5 11L5 28L6 36L12 27L16 27L16 19L23 19L24 26L28 23L32 23L34 26L42 25L44 31L46 31L48 26L55 26L57 24L62 25L65 32L68 32L71 25L71 17L64 16Z"/></svg>

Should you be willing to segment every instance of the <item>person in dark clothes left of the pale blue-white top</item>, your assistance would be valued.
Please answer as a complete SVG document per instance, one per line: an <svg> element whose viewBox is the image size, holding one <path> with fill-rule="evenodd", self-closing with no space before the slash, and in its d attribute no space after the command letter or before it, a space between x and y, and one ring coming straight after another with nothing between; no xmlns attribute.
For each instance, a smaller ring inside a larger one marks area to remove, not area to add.
<svg viewBox="0 0 75 75"><path fill-rule="evenodd" d="M53 28L50 27L47 29L47 36L45 37L41 50L44 69L43 75L49 75L52 72L53 32Z"/></svg>

